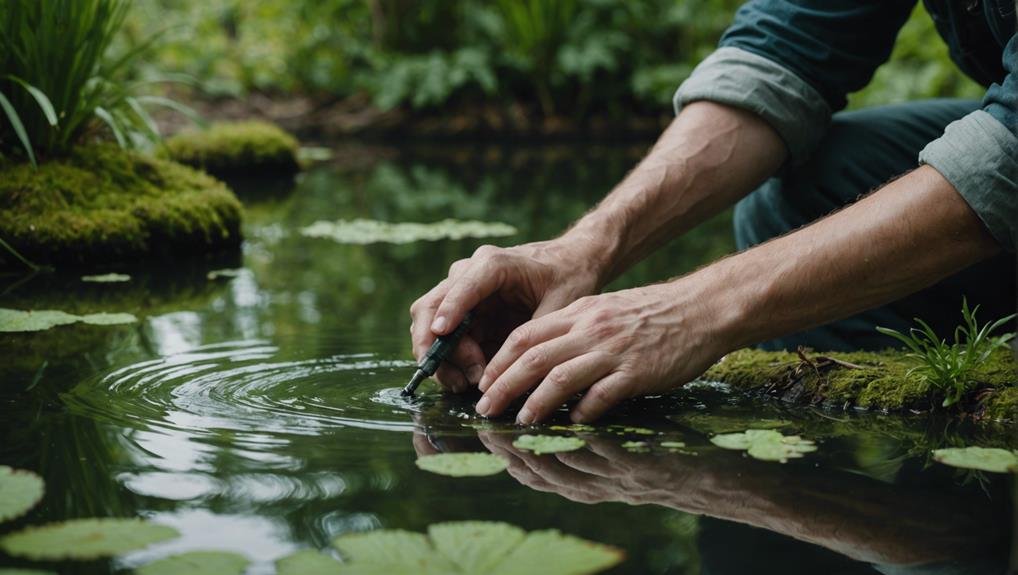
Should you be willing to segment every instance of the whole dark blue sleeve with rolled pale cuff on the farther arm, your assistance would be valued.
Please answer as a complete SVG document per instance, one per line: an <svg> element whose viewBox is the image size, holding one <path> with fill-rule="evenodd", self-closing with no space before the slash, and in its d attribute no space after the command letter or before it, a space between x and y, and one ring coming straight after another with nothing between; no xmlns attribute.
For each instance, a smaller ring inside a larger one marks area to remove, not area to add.
<svg viewBox="0 0 1018 575"><path fill-rule="evenodd" d="M847 95L891 56L916 0L750 0L719 49L675 94L676 113L708 100L753 112L801 164Z"/></svg>

